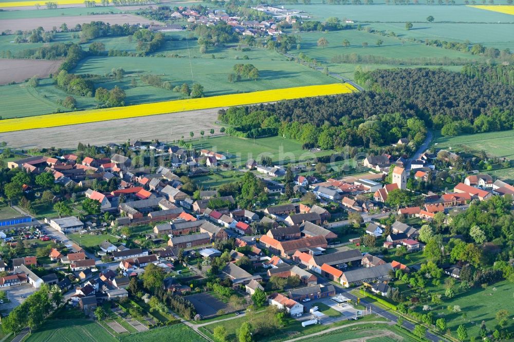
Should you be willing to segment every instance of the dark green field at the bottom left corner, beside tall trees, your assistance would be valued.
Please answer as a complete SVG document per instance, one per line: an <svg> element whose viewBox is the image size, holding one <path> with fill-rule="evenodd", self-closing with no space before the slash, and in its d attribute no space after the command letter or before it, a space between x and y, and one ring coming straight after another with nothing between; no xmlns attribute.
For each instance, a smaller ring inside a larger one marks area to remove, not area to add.
<svg viewBox="0 0 514 342"><path fill-rule="evenodd" d="M104 328L96 322L87 319L48 320L43 326L32 332L27 342L49 341L74 342L109 342L116 341Z"/></svg>

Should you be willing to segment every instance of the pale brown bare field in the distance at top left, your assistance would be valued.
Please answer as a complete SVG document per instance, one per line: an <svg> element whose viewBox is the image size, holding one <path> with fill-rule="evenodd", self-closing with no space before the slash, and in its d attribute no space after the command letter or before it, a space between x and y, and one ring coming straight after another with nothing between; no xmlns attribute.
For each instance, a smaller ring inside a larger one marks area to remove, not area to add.
<svg viewBox="0 0 514 342"><path fill-rule="evenodd" d="M66 23L68 27L75 27L77 24L90 23L93 21L99 21L104 23L114 24L150 24L156 21L151 21L141 16L133 14L99 14L99 15L80 15L80 16L53 16L47 18L39 18L34 21L33 18L25 19L7 19L0 21L0 31L12 30L32 30L36 27L42 26L45 31L49 31L53 26L60 27L63 23ZM13 36L14 39L14 36Z"/></svg>

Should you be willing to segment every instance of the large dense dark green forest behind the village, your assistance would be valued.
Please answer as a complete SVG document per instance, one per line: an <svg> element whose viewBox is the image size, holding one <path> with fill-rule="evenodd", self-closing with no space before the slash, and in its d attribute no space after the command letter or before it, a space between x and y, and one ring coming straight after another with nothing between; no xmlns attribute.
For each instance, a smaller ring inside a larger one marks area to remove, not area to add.
<svg viewBox="0 0 514 342"><path fill-rule="evenodd" d="M233 127L227 132L234 136L257 138L278 130L305 147L337 150L384 146L399 138L416 146L427 128L447 136L512 129L512 69L469 66L464 72L356 71L357 82L372 90L234 107L220 110L218 119Z"/></svg>

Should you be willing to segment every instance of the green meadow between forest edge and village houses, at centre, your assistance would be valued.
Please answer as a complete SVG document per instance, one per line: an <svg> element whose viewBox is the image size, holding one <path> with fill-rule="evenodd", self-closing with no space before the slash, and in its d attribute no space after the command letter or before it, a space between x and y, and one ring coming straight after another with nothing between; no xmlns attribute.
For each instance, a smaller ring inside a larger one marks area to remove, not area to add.
<svg viewBox="0 0 514 342"><path fill-rule="evenodd" d="M308 150L302 149L302 144L298 141L284 139L281 137L269 137L261 139L240 139L229 136L204 139L193 142L195 148L207 148L219 153L233 155L229 160L235 165L245 166L250 158L258 163L262 156L269 156L273 162L282 161L284 164L293 161L313 160L314 157L324 156L332 151L321 151L313 154Z"/></svg>

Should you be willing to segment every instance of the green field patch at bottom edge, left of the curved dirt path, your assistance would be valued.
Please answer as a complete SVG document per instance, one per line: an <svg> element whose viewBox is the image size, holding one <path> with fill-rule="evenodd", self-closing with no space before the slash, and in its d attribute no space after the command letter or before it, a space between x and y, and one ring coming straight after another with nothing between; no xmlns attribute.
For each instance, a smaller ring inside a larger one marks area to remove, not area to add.
<svg viewBox="0 0 514 342"><path fill-rule="evenodd" d="M156 328L149 331L124 335L118 337L121 342L145 342L145 341L180 341L180 342L203 342L201 337L193 329L183 324L175 324L164 328Z"/></svg>

